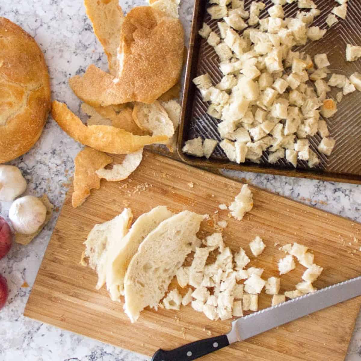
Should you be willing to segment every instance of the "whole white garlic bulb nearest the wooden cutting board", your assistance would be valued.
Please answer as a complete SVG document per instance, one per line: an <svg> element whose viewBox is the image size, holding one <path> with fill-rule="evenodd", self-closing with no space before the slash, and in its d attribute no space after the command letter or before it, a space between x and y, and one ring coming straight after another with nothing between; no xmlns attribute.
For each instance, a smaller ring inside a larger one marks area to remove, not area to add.
<svg viewBox="0 0 361 361"><path fill-rule="evenodd" d="M46 207L34 196L18 198L9 209L9 218L16 230L22 234L33 234L44 223Z"/></svg>

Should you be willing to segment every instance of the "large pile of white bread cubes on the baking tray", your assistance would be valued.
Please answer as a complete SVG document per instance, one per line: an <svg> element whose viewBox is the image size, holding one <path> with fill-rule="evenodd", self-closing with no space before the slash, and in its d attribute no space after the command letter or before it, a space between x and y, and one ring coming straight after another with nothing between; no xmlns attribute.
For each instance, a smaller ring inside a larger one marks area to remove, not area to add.
<svg viewBox="0 0 361 361"><path fill-rule="evenodd" d="M271 164L285 157L294 167L300 160L312 168L320 160L310 149L309 137L318 132L322 138L318 151L331 155L335 139L330 137L325 119L335 115L343 96L361 91L361 74L349 78L331 74L326 53L312 58L292 50L326 34L327 29L310 26L320 14L313 1L299 0L301 10L295 18L284 17L282 6L295 0L272 1L269 16L261 19L258 17L266 8L262 2L253 1L245 10L244 1L210 1L214 5L207 12L212 20L219 19L220 36L206 23L199 35L214 47L224 76L218 84L212 84L208 73L193 82L209 103L207 113L221 119L218 132L223 140L219 145L230 161L259 163L268 149ZM326 19L329 27L346 18L347 0L336 1L340 5ZM355 61L361 56L361 47L348 44L345 53L347 61ZM331 87L340 89L336 99L327 96ZM217 144L217 140L203 142L199 137L188 140L183 152L209 158Z"/></svg>

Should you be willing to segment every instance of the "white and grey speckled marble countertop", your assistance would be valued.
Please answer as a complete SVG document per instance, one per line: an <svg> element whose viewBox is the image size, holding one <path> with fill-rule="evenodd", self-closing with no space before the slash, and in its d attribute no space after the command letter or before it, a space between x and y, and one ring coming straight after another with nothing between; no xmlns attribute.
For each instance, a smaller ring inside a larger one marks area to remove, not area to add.
<svg viewBox="0 0 361 361"><path fill-rule="evenodd" d="M189 34L192 1L183 0L181 18ZM120 4L129 11L141 0ZM0 16L9 18L34 36L47 61L53 99L65 101L79 113L80 101L68 86L71 75L96 64L106 69L106 57L97 42L82 0L1 0ZM187 37L188 39L188 37ZM10 288L8 303L0 312L1 361L118 361L147 360L144 356L75 335L23 316L26 301L34 284L59 209L73 173L73 159L81 149L49 117L44 132L29 153L11 162L23 171L29 186L27 193L46 192L56 212L41 234L29 245L14 245L0 260ZM234 175L234 174L233 174ZM361 222L361 186L286 178L265 174L238 173L256 186L291 197L305 204L340 214ZM9 204L0 203L0 214L6 217ZM24 282L29 287L21 287ZM361 361L361 317L358 318L347 361Z"/></svg>

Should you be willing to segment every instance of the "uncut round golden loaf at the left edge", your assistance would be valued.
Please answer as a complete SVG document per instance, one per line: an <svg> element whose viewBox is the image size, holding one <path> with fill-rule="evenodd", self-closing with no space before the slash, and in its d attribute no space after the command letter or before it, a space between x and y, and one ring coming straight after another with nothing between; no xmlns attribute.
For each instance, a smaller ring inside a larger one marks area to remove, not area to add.
<svg viewBox="0 0 361 361"><path fill-rule="evenodd" d="M39 139L50 110L44 55L21 27L0 17L0 163Z"/></svg>

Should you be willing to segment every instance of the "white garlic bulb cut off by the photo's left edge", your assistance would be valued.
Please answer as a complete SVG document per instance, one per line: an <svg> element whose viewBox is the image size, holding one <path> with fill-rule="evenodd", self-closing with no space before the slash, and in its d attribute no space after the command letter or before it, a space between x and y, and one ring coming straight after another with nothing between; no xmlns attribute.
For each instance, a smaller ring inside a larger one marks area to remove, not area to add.
<svg viewBox="0 0 361 361"><path fill-rule="evenodd" d="M12 202L26 190L26 180L19 168L0 165L0 201Z"/></svg>

